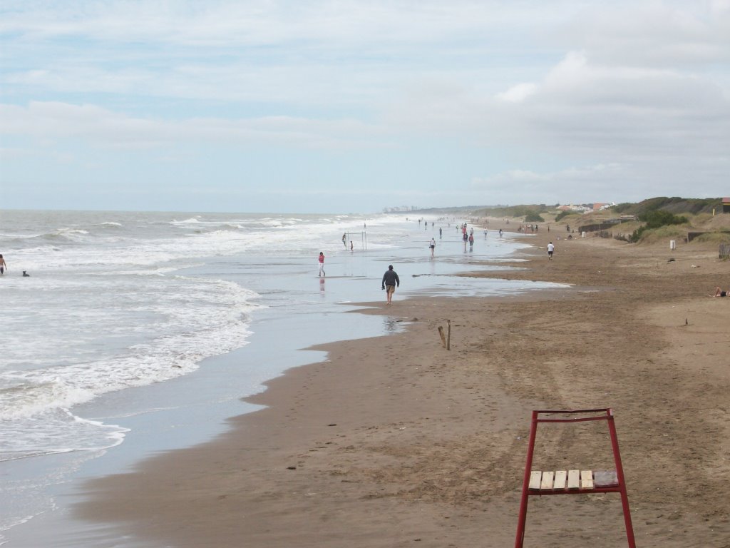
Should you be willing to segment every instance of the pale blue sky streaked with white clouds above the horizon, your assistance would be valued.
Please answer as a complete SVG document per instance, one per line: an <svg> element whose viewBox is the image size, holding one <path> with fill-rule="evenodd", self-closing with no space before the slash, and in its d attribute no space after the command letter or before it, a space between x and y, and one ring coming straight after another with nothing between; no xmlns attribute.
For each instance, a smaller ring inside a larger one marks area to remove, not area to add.
<svg viewBox="0 0 730 548"><path fill-rule="evenodd" d="M730 0L0 0L0 209L730 195Z"/></svg>

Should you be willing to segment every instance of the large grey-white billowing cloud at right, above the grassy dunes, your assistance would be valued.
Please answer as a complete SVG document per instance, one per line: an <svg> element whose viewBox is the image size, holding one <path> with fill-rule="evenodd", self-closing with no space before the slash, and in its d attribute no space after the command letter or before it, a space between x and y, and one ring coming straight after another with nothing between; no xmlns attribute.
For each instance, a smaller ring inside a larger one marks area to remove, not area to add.
<svg viewBox="0 0 730 548"><path fill-rule="evenodd" d="M721 160L730 150L730 100L711 79L594 64L582 52L567 53L541 81L509 88L496 100L434 86L389 112L404 130L603 162Z"/></svg>

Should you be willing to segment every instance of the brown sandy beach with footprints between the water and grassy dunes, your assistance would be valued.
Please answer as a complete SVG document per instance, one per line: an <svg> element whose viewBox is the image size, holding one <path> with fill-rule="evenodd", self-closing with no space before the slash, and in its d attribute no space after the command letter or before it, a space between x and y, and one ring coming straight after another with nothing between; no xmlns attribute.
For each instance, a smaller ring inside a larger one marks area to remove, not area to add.
<svg viewBox="0 0 730 548"><path fill-rule="evenodd" d="M266 408L94 480L77 514L151 548L511 547L531 410L611 407L637 546L730 547L730 298L708 297L730 263L713 244L564 234L480 275L572 289L383 295L356 313L403 332L318 347L325 362L248 399ZM558 427L533 468L612 468L604 441ZM531 498L526 547L589 545L626 546L618 495Z"/></svg>

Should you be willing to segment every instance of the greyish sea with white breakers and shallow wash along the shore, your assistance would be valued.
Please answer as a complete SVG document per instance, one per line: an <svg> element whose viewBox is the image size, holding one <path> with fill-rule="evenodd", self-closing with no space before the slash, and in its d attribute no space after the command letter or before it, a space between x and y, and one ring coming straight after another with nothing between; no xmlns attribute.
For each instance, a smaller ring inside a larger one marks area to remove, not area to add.
<svg viewBox="0 0 730 548"><path fill-rule="evenodd" d="M134 446L126 438L146 435L137 446L148 451L199 443L220 432L226 415L250 411L239 398L266 379L322 359L296 349L396 331L392 320L341 314L354 308L348 303L384 300L389 263L401 277L396 300L551 286L454 278L487 260L499 268L528 245L499 238L499 227L488 235L476 227L467 248L461 221L0 212L9 267L0 278L0 544L15 527L58 511L58 485L79 470L115 471L115 455ZM174 435L171 422L182 426Z"/></svg>

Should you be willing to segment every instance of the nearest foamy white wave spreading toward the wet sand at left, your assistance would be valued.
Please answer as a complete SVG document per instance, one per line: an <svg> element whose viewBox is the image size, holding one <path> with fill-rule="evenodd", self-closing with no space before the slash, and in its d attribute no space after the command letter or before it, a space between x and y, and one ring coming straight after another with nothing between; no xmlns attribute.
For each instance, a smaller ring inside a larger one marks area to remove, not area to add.
<svg viewBox="0 0 730 548"><path fill-rule="evenodd" d="M56 268L56 275L30 283L7 278L13 290L4 313L15 329L0 332L7 348L0 370L0 452L6 457L32 454L34 446L42 453L108 446L106 427L80 428L72 415L55 412L185 375L201 359L246 343L250 313L259 306L252 302L255 292L171 275L171 266L119 270L107 261L104 270L89 270L103 263L104 251L88 255L74 254L76 270L83 269L77 275L59 275L63 269ZM38 439L57 445L38 444L31 433L39 430ZM103 439L94 430L102 430Z"/></svg>

